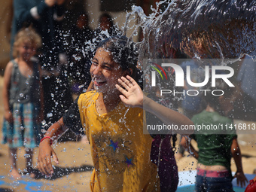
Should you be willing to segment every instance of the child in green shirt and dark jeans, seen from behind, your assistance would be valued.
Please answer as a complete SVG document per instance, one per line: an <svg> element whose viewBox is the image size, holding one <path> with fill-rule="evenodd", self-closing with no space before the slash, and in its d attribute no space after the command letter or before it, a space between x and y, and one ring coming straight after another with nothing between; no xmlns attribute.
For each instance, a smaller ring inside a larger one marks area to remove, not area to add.
<svg viewBox="0 0 256 192"><path fill-rule="evenodd" d="M224 81L216 81L216 86L206 87L206 90L223 90L221 96L207 94L203 97L206 108L192 117L197 126L227 126L229 130L198 129L193 135L184 136L181 145L198 160L196 189L203 191L233 191L232 179L237 178L237 184L245 186L247 178L242 169L242 155L237 141L233 120L228 116L236 103L237 93L233 87L228 87ZM191 145L190 139L197 142L198 151ZM233 176L230 160L236 163L236 173Z"/></svg>

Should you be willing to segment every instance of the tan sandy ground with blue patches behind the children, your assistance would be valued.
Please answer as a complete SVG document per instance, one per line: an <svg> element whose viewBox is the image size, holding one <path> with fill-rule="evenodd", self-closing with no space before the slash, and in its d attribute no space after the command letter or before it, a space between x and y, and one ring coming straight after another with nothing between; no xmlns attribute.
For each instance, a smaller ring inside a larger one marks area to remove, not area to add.
<svg viewBox="0 0 256 192"><path fill-rule="evenodd" d="M0 77L0 96L2 96L2 77ZM0 125L2 128L2 100L0 100ZM236 121L240 122L240 121ZM242 123L252 123L245 122ZM256 134L256 133L255 133ZM239 134L239 145L242 151L242 165L245 173L251 174L256 169L256 135ZM2 132L0 132L2 137ZM178 142L177 142L178 145ZM8 165L8 145L0 144L0 192L1 191L90 191L89 181L92 172L92 160L90 146L82 142L61 142L55 146L56 154L59 157L59 165L55 166L52 178L32 179L24 175L19 181L9 178L10 166ZM20 172L25 168L24 148L18 151L17 166ZM33 164L36 163L38 148L35 148ZM195 169L197 160L188 157L177 159L178 171ZM232 160L231 169L236 172L235 163Z"/></svg>

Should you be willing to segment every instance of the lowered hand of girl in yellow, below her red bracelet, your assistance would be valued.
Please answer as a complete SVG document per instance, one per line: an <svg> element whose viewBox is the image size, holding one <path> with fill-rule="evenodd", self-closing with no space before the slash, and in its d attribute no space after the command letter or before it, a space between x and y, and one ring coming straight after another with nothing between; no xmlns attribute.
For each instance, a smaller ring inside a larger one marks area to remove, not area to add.
<svg viewBox="0 0 256 192"><path fill-rule="evenodd" d="M58 157L56 156L53 148L50 146L50 139L44 139L39 145L38 154L38 169L41 173L47 176L53 175L53 166L51 157L56 164L59 164Z"/></svg>

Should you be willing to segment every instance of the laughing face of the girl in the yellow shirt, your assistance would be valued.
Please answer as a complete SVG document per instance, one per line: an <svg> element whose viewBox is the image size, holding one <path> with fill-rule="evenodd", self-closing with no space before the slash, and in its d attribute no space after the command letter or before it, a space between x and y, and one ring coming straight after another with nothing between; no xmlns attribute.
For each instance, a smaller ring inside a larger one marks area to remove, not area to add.
<svg viewBox="0 0 256 192"><path fill-rule="evenodd" d="M120 64L114 62L113 56L108 50L99 47L92 60L90 75L94 88L99 92L109 94L118 93L115 87L117 79L128 75L128 73L122 70Z"/></svg>

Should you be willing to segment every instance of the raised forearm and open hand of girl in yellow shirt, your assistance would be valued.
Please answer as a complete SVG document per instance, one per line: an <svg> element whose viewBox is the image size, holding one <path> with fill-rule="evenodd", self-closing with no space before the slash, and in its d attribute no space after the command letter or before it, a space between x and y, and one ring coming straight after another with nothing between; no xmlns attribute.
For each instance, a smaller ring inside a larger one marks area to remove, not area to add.
<svg viewBox="0 0 256 192"><path fill-rule="evenodd" d="M122 77L118 80L118 82L124 87L120 87L116 85L117 90L119 90L123 95L120 95L120 99L126 105L130 105L132 107L143 108L145 111L150 112L157 116L160 120L163 121L166 125L178 125L180 129L175 130L175 132L180 134L192 134L194 130L185 130L184 126L193 125L194 123L177 111L173 111L170 108L166 108L163 105L154 102L152 99L145 96L142 92L142 89L136 83L136 81L130 76L126 76L126 78Z"/></svg>

